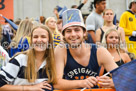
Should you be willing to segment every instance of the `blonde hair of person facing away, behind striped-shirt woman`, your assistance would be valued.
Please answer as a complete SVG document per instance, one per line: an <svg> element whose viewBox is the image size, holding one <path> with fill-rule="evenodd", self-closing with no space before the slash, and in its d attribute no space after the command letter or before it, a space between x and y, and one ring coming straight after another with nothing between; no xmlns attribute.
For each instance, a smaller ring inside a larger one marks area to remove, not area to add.
<svg viewBox="0 0 136 91"><path fill-rule="evenodd" d="M33 28L33 24L28 19L21 21L21 23L19 24L19 27L17 29L16 35L13 38L13 41L16 42L15 46L17 46L19 44L21 38L23 38L22 39L22 42L23 42L24 37L30 36L32 28Z"/></svg>

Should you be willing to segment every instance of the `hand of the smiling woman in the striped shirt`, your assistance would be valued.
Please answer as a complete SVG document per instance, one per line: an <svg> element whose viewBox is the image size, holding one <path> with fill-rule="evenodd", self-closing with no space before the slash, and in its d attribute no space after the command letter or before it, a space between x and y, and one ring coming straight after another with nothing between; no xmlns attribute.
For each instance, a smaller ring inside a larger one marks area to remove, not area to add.
<svg viewBox="0 0 136 91"><path fill-rule="evenodd" d="M51 90L51 85L47 81L43 81L31 87L32 91L45 91L44 89Z"/></svg>

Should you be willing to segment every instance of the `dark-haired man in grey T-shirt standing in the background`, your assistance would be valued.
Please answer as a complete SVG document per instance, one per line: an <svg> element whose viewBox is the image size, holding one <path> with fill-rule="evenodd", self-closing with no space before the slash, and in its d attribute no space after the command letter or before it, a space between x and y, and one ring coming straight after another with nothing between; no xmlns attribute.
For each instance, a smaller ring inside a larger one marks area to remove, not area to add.
<svg viewBox="0 0 136 91"><path fill-rule="evenodd" d="M86 29L91 35L90 38L92 38L93 43L96 43L96 30L102 27L104 24L102 13L106 8L106 0L94 0L94 7L95 10L91 12L86 19Z"/></svg>

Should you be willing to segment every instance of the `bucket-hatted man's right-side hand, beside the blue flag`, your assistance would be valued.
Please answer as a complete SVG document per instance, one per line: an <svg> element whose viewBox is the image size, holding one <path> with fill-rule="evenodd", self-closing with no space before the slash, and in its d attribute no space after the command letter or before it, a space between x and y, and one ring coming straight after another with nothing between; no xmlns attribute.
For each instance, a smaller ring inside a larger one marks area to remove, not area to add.
<svg viewBox="0 0 136 91"><path fill-rule="evenodd" d="M100 76L100 77L97 77L97 79L98 79L98 84L100 87L114 88L113 80L110 77Z"/></svg>

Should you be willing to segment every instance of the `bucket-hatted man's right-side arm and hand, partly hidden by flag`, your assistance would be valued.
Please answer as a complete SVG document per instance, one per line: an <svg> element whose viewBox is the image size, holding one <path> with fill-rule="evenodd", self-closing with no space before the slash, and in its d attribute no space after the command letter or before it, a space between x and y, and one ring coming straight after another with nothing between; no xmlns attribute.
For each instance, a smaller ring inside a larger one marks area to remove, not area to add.
<svg viewBox="0 0 136 91"><path fill-rule="evenodd" d="M117 68L117 64L114 62L111 54L105 48L98 48L97 58L99 65L103 65L107 72ZM113 80L108 76L100 76L97 78L100 87L114 88Z"/></svg>

